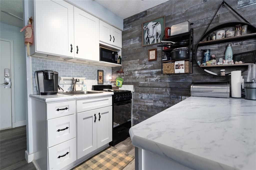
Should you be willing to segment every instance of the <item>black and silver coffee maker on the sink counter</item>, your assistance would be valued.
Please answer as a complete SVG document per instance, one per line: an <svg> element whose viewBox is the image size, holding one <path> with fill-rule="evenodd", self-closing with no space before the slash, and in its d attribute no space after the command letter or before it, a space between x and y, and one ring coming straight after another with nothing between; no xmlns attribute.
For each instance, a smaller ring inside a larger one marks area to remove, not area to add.
<svg viewBox="0 0 256 170"><path fill-rule="evenodd" d="M37 70L36 88L39 95L53 95L58 93L58 72L52 70Z"/></svg>

